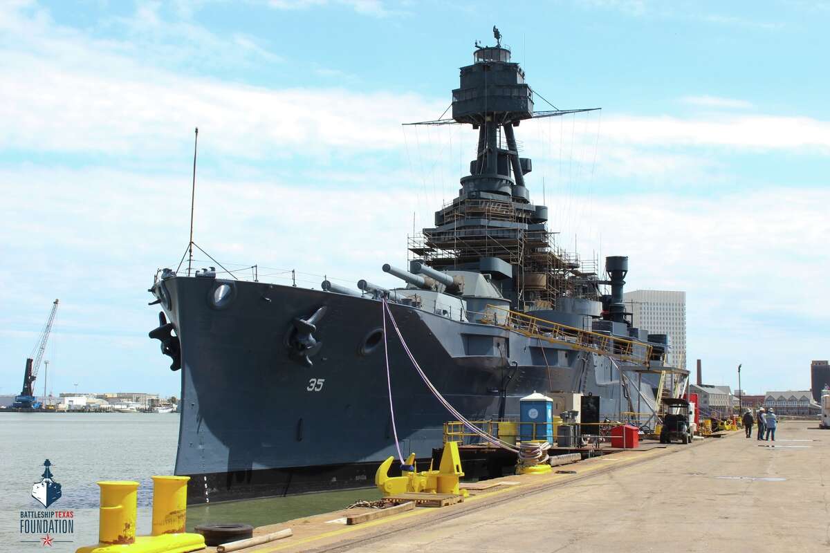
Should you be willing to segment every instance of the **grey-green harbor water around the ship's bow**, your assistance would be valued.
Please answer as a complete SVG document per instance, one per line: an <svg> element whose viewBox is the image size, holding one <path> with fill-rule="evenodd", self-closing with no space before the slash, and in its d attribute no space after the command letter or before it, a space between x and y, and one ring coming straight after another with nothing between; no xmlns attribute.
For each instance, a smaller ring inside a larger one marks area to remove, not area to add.
<svg viewBox="0 0 830 553"><path fill-rule="evenodd" d="M98 480L135 480L139 486L138 533L149 534L155 474L172 474L178 415L150 413L0 414L0 552L42 551L40 542L21 543L21 510L43 510L31 497L43 461L52 463L61 498L50 509L75 512L71 543L50 551L75 551L98 541ZM201 523L273 524L377 499L376 488L314 493L188 507L188 529ZM31 539L31 536L28 536Z"/></svg>

